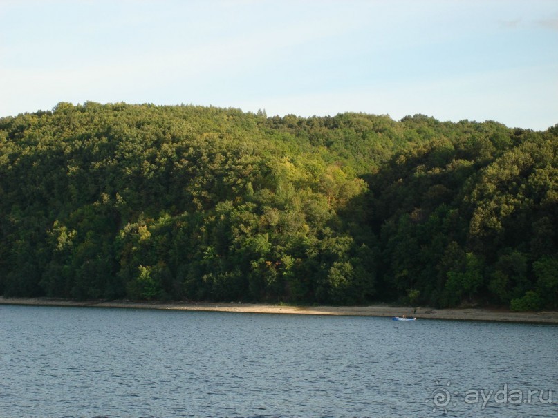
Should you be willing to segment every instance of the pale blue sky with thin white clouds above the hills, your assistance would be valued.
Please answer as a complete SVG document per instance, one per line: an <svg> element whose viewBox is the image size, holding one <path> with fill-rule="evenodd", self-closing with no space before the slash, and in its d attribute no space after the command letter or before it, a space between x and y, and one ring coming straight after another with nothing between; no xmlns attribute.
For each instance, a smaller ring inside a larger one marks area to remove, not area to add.
<svg viewBox="0 0 558 418"><path fill-rule="evenodd" d="M0 0L0 117L59 102L558 124L557 0Z"/></svg>

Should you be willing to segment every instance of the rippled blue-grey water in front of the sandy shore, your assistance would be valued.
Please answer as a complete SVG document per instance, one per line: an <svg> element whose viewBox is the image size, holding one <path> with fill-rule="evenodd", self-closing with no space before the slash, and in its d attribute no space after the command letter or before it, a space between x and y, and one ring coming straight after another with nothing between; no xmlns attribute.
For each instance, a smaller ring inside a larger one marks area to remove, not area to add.
<svg viewBox="0 0 558 418"><path fill-rule="evenodd" d="M0 417L555 418L557 349L548 325L5 305Z"/></svg>

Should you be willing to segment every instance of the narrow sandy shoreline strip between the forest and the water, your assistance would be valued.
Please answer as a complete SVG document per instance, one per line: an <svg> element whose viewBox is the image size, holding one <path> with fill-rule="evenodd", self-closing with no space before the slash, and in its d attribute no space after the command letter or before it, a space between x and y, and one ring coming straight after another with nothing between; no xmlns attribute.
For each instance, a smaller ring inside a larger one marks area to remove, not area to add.
<svg viewBox="0 0 558 418"><path fill-rule="evenodd" d="M402 316L416 319L444 319L456 321L490 321L508 323L558 324L557 311L511 312L509 310L454 308L432 309L391 305L369 306L295 306L270 305L265 303L196 303L196 302L132 302L132 301L70 301L57 298L4 298L0 305L62 306L62 307L111 307L127 309L189 310L206 312L239 312L254 314L306 314L337 316Z"/></svg>

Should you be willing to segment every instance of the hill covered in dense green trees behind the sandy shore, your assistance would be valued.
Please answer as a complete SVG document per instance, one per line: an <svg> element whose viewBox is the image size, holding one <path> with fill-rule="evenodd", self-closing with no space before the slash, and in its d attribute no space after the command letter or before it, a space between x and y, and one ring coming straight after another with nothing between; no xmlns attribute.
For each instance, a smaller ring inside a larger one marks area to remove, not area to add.
<svg viewBox="0 0 558 418"><path fill-rule="evenodd" d="M0 293L558 307L558 125L60 103L0 119Z"/></svg>

